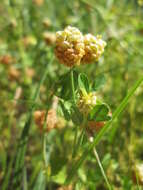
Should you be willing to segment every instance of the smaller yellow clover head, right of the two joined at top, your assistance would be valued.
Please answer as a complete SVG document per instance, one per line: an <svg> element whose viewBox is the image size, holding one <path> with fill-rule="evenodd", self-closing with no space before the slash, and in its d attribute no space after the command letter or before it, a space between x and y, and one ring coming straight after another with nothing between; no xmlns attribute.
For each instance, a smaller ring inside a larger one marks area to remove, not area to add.
<svg viewBox="0 0 143 190"><path fill-rule="evenodd" d="M92 63L98 61L104 52L106 42L102 40L101 35L96 37L92 34L84 36L85 54L82 58L82 63Z"/></svg>

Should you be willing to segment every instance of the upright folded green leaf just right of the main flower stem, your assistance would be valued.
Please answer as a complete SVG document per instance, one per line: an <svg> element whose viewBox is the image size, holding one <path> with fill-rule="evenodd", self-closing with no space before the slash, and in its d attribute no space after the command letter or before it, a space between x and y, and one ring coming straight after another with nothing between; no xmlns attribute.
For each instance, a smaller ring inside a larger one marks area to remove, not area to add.
<svg viewBox="0 0 143 190"><path fill-rule="evenodd" d="M81 91L89 92L89 81L85 74L81 73L78 76L78 85Z"/></svg>

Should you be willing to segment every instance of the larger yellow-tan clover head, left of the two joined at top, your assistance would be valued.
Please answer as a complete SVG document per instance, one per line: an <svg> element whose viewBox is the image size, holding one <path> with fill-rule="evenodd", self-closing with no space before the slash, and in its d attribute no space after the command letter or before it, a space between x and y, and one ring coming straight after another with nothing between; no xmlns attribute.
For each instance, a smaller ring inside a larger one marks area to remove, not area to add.
<svg viewBox="0 0 143 190"><path fill-rule="evenodd" d="M68 67L80 65L84 53L84 37L79 29L68 26L56 33L55 55L60 63Z"/></svg>

